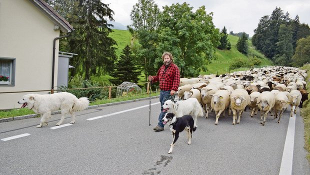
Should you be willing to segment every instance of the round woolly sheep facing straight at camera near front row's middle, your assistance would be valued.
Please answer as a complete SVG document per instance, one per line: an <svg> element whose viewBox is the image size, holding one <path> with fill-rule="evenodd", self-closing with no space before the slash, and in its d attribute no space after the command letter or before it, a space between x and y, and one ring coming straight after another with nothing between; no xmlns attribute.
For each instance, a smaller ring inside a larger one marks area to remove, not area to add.
<svg viewBox="0 0 310 175"><path fill-rule="evenodd" d="M238 116L237 124L240 123L240 117L244 108L249 104L249 94L245 89L236 88L230 94L230 109L232 110L232 124L235 125L236 115Z"/></svg>

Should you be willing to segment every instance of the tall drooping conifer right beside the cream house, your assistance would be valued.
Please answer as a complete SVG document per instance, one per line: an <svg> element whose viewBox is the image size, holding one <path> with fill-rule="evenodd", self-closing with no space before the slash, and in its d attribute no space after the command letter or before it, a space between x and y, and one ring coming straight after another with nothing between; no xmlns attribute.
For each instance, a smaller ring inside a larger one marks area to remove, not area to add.
<svg viewBox="0 0 310 175"><path fill-rule="evenodd" d="M84 72L85 79L109 72L116 59L116 42L108 36L113 25L107 20L112 21L114 14L108 4L100 0L55 0L52 5L75 29L65 46L67 51L77 53L70 60L75 71Z"/></svg>

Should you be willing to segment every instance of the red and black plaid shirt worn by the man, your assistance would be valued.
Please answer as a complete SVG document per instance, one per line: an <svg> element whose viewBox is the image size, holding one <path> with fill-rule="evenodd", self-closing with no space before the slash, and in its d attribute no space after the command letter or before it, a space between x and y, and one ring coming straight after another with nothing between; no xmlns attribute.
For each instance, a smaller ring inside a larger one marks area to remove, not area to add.
<svg viewBox="0 0 310 175"><path fill-rule="evenodd" d="M164 71L165 65L163 64L157 75L153 76L153 81L159 81L159 88L161 90L174 90L177 91L177 87L180 83L180 71L177 65L171 63Z"/></svg>

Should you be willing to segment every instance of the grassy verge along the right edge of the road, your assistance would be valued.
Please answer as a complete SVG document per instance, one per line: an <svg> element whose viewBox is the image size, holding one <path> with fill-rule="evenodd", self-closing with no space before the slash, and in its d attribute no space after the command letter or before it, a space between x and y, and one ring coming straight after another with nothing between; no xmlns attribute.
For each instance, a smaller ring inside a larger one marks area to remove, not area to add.
<svg viewBox="0 0 310 175"><path fill-rule="evenodd" d="M306 64L304 66L301 67L302 69L307 69L308 72L308 76L306 77L306 87L307 87L307 92L310 92L310 64ZM309 95L308 95L309 97ZM304 147L305 149L308 151L307 154L307 159L310 162L310 100L306 100L303 102L302 108L301 108L301 112L300 115L303 118L303 123L304 123Z"/></svg>

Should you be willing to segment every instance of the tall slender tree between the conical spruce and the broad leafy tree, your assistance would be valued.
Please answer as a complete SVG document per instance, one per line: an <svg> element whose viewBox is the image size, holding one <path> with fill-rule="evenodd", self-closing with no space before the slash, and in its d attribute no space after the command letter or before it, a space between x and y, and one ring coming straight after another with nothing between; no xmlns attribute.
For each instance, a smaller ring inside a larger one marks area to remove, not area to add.
<svg viewBox="0 0 310 175"><path fill-rule="evenodd" d="M158 28L159 13L159 8L154 0L138 0L130 13L132 24L128 28L132 36L139 40L139 44L134 45L132 51L136 55L136 62L142 68L145 80L147 80L147 75L156 72L154 62L158 57L156 29Z"/></svg>

